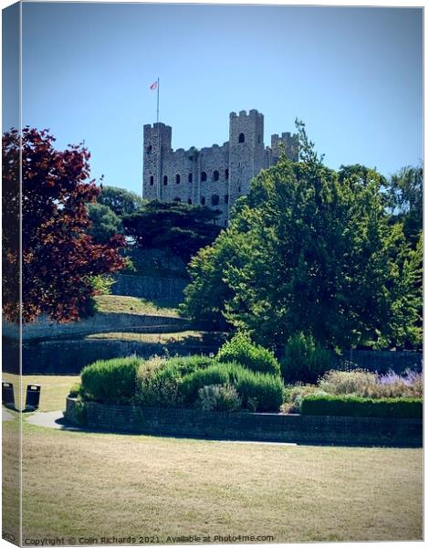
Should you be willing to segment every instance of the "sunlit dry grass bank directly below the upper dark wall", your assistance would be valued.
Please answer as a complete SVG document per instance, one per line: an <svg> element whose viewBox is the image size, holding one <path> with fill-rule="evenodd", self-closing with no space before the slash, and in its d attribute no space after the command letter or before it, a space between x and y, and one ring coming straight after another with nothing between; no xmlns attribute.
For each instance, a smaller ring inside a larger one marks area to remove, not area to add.
<svg viewBox="0 0 429 548"><path fill-rule="evenodd" d="M137 297L125 297L122 295L98 295L96 297L99 312L149 314L153 316L177 317L179 314L175 308L163 306L161 303Z"/></svg>

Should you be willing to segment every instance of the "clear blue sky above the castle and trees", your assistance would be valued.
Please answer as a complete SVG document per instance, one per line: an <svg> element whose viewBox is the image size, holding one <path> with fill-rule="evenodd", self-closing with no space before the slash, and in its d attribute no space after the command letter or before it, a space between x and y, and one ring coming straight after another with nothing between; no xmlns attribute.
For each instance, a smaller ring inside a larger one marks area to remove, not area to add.
<svg viewBox="0 0 429 548"><path fill-rule="evenodd" d="M24 4L23 122L85 141L92 174L141 193L142 126L173 147L228 139L230 111L271 133L305 121L325 162L392 174L423 157L422 9ZM7 125L7 117L4 120Z"/></svg>

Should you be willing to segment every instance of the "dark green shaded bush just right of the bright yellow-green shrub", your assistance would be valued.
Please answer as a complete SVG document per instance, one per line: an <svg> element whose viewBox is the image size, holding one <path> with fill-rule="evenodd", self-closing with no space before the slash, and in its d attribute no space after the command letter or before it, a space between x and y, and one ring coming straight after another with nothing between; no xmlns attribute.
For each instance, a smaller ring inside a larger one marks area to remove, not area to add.
<svg viewBox="0 0 429 548"><path fill-rule="evenodd" d="M317 344L311 335L296 333L288 339L281 360L285 383L317 383L319 376L332 369L335 355Z"/></svg>

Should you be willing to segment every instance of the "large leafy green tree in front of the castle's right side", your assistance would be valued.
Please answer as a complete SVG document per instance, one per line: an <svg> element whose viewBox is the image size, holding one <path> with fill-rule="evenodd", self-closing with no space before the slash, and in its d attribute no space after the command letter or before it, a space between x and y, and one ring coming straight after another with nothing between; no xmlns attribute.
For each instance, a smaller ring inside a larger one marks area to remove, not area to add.
<svg viewBox="0 0 429 548"><path fill-rule="evenodd" d="M298 332L336 349L416 343L410 250L389 226L380 175L340 181L301 122L298 134L301 162L257 175L192 259L183 312L223 317L272 347Z"/></svg>

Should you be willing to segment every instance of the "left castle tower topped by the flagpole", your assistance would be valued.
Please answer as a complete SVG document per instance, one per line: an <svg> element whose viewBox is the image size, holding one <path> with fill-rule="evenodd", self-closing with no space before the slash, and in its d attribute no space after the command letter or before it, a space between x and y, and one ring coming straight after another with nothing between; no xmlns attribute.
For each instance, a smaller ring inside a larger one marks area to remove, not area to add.
<svg viewBox="0 0 429 548"><path fill-rule="evenodd" d="M172 152L172 128L162 122L143 126L143 198L162 200L162 158Z"/></svg>

